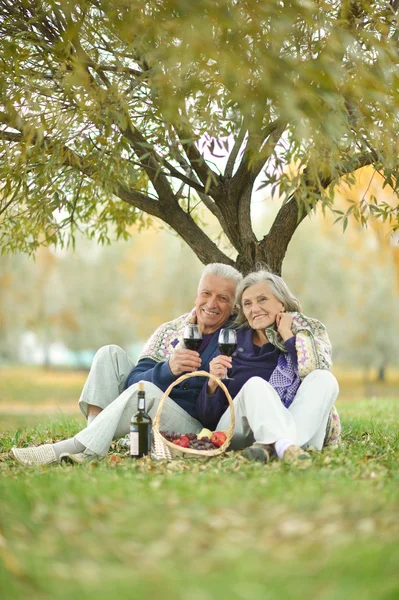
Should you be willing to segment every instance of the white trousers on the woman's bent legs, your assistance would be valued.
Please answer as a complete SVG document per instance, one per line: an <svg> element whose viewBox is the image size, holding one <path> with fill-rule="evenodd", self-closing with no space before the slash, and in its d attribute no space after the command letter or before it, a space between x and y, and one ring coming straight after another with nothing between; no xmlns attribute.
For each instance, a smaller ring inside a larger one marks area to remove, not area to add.
<svg viewBox="0 0 399 600"><path fill-rule="evenodd" d="M302 381L291 406L285 408L267 381L252 377L233 400L236 424L231 449L245 448L254 442L271 444L285 438L298 446L321 450L338 391L338 382L330 371L313 371ZM227 409L217 430L229 425Z"/></svg>

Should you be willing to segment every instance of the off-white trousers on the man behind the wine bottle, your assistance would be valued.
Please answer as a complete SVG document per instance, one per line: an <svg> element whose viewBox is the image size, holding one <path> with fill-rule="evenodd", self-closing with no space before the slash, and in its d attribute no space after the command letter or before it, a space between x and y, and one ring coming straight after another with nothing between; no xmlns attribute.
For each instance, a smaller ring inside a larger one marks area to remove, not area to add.
<svg viewBox="0 0 399 600"><path fill-rule="evenodd" d="M130 420L137 411L138 386L134 384L125 390L125 383L133 367L126 352L115 345L100 348L93 359L79 406L85 416L89 405L103 410L75 438L99 456L107 455L113 439L129 432ZM148 381L144 382L144 389L146 410L153 419L163 392ZM177 433L198 433L202 429L199 421L170 398L166 399L162 409L161 427Z"/></svg>

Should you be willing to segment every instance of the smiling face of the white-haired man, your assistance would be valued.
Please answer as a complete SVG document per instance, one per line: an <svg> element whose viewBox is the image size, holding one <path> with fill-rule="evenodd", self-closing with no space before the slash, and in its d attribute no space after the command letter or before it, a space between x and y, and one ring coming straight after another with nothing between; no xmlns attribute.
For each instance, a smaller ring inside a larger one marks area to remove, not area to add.
<svg viewBox="0 0 399 600"><path fill-rule="evenodd" d="M233 314L236 284L231 279L205 275L195 299L197 322L202 333L217 331Z"/></svg>

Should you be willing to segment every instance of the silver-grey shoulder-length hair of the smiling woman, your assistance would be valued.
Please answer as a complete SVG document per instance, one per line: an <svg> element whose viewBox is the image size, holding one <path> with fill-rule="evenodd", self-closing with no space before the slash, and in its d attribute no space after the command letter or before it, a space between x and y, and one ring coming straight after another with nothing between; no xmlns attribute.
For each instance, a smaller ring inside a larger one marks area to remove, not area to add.
<svg viewBox="0 0 399 600"><path fill-rule="evenodd" d="M234 322L237 327L248 326L248 321L242 310L242 295L251 285L261 282L267 283L273 296L284 305L286 311L301 311L301 305L299 300L295 298L294 294L290 291L284 279L269 271L261 270L249 273L237 287L236 292L236 303L238 305L238 315Z"/></svg>

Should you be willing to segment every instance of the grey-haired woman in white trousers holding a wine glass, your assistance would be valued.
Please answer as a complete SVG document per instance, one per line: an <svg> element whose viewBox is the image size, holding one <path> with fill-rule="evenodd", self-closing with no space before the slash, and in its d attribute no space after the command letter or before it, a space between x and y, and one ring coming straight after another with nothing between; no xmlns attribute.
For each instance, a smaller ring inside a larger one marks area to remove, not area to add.
<svg viewBox="0 0 399 600"><path fill-rule="evenodd" d="M334 408L338 384L329 371L331 345L324 325L300 313L283 279L268 271L247 275L237 288L237 352L216 356L210 373L223 378L234 398L233 449L250 460L270 455L292 462L310 458L307 446L338 443ZM212 380L197 399L199 419L209 429L230 424L224 392Z"/></svg>

